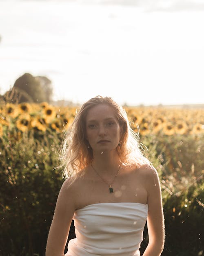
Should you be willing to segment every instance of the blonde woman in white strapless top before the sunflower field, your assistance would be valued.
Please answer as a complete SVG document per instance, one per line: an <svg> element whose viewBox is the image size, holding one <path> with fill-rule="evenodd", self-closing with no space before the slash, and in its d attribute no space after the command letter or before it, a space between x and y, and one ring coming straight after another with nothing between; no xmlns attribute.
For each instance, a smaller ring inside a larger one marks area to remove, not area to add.
<svg viewBox="0 0 204 256"><path fill-rule="evenodd" d="M47 240L46 256L63 256L72 219L75 239L66 256L143 256L164 247L164 217L157 171L146 159L126 112L111 97L86 102L64 141L64 181Z"/></svg>

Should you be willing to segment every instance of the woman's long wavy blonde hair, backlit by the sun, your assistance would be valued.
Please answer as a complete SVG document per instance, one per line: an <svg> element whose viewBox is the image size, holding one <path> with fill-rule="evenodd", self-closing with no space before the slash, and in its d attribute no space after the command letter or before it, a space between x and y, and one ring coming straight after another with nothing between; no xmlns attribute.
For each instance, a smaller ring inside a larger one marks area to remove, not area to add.
<svg viewBox="0 0 204 256"><path fill-rule="evenodd" d="M124 165L151 165L142 154L143 147L139 143L139 134L131 129L126 111L111 97L96 96L82 105L64 136L60 149L60 167L63 168L62 177L65 179L83 170L93 160L93 152L86 139L86 115L89 109L98 104L111 106L122 127L120 144L116 148L120 162Z"/></svg>

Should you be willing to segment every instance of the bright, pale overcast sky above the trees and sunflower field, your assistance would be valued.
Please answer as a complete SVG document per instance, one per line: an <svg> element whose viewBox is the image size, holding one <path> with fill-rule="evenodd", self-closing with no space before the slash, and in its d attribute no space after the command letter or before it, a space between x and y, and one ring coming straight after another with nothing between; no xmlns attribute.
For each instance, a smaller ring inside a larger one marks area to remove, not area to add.
<svg viewBox="0 0 204 256"><path fill-rule="evenodd" d="M0 0L0 93L25 72L53 100L203 104L202 0Z"/></svg>

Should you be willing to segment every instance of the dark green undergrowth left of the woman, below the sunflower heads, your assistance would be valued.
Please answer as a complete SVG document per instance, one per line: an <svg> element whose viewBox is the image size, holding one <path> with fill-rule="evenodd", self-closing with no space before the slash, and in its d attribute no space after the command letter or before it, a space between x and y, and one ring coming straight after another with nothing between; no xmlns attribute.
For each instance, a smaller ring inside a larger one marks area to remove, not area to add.
<svg viewBox="0 0 204 256"><path fill-rule="evenodd" d="M55 202L62 185L57 136L3 137L0 152L0 255L43 255Z"/></svg>

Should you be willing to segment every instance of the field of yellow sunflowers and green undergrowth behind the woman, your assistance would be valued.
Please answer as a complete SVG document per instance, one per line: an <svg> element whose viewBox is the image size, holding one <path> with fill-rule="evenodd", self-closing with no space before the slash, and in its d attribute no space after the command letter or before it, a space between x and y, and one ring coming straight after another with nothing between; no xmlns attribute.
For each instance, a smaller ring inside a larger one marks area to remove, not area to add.
<svg viewBox="0 0 204 256"><path fill-rule="evenodd" d="M125 107L158 171L166 241L162 256L202 256L204 109ZM43 256L62 186L58 149L76 108L0 105L0 256ZM73 224L69 239L75 236ZM148 243L145 227L141 255Z"/></svg>

